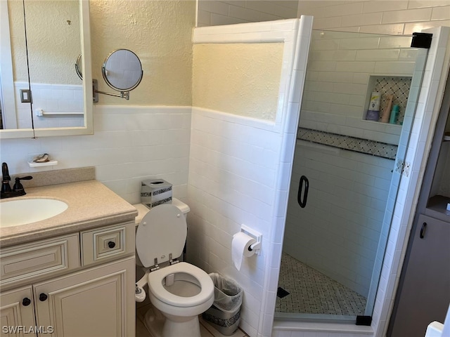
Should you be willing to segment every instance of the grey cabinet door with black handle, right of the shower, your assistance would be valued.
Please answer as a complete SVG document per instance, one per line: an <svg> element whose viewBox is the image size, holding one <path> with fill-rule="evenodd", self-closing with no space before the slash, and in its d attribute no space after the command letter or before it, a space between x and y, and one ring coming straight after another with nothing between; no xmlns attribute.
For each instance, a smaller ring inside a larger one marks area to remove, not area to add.
<svg viewBox="0 0 450 337"><path fill-rule="evenodd" d="M450 223L420 215L389 336L423 337L450 302Z"/></svg>

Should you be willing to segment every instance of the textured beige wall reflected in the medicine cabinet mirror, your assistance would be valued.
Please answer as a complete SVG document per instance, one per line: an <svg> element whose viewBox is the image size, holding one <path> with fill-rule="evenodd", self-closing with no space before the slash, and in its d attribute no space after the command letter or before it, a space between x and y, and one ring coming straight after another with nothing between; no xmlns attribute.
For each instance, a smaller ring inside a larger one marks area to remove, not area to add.
<svg viewBox="0 0 450 337"><path fill-rule="evenodd" d="M30 81L81 84L74 68L81 53L78 1L25 1L25 13ZM14 79L28 81L22 1L8 0L8 15Z"/></svg>

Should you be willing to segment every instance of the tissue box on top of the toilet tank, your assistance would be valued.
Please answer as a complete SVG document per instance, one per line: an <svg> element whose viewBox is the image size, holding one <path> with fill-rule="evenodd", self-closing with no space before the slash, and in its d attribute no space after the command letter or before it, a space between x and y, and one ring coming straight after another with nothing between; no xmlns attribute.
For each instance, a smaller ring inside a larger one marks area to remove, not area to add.
<svg viewBox="0 0 450 337"><path fill-rule="evenodd" d="M141 203L149 209L160 204L172 203L172 184L162 179L143 180Z"/></svg>

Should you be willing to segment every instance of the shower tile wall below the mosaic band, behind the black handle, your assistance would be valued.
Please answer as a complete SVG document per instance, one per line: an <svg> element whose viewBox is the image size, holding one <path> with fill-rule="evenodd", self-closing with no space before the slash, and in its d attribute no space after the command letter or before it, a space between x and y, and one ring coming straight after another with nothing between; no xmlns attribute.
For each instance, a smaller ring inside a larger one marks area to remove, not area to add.
<svg viewBox="0 0 450 337"><path fill-rule="evenodd" d="M394 161L299 141L283 249L349 289L368 295ZM307 206L297 204L300 176Z"/></svg>

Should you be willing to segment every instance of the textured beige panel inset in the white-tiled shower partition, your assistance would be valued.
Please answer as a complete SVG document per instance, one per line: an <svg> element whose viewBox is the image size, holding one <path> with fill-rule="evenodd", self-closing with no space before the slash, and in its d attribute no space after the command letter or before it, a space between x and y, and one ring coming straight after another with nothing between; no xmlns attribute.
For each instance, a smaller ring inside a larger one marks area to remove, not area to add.
<svg viewBox="0 0 450 337"><path fill-rule="evenodd" d="M196 44L193 106L274 121L283 44Z"/></svg>

